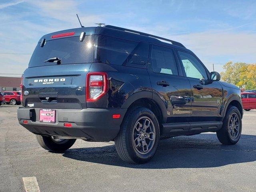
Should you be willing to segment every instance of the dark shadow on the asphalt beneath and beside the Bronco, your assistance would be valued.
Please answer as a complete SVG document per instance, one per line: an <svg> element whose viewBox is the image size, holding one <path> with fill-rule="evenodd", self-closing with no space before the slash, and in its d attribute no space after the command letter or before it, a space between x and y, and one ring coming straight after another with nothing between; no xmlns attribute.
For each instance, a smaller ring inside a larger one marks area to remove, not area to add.
<svg viewBox="0 0 256 192"><path fill-rule="evenodd" d="M222 145L216 134L179 136L160 140L154 158L146 164L122 161L114 145L72 148L64 157L75 160L130 168L210 168L256 160L256 136L241 135L236 145Z"/></svg>

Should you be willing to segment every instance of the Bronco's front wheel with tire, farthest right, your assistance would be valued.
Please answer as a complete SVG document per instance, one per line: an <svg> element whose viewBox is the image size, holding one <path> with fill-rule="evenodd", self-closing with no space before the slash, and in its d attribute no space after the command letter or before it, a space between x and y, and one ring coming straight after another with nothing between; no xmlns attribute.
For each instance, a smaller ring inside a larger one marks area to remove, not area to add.
<svg viewBox="0 0 256 192"><path fill-rule="evenodd" d="M237 118L237 121L232 124ZM238 123L237 123L238 122ZM231 127L231 128L230 128ZM235 133L234 133L235 132ZM235 106L228 108L225 118L223 120L223 126L217 131L218 140L224 145L234 145L240 139L242 132L242 117Z"/></svg>

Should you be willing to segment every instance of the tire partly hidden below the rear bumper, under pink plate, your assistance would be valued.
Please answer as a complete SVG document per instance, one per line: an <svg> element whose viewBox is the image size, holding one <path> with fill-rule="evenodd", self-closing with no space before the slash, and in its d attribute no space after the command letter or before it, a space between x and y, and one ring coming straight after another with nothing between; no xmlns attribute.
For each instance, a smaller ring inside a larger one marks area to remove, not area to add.
<svg viewBox="0 0 256 192"><path fill-rule="evenodd" d="M63 139L56 141L51 136L42 135L36 135L36 139L42 148L50 152L64 152L76 142L76 139Z"/></svg>

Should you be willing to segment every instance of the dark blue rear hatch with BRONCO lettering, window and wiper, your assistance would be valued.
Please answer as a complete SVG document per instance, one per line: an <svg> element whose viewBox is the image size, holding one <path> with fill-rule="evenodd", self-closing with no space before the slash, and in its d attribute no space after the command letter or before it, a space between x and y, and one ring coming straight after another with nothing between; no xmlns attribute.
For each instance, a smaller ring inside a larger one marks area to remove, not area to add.
<svg viewBox="0 0 256 192"><path fill-rule="evenodd" d="M86 108L86 74L93 62L95 27L43 36L23 74L23 105L29 108Z"/></svg>

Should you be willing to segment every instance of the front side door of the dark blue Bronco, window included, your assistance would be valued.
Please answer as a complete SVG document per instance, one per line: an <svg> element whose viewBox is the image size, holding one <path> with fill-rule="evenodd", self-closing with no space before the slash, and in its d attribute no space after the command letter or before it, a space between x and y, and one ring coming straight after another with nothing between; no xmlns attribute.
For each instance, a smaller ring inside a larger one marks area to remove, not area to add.
<svg viewBox="0 0 256 192"><path fill-rule="evenodd" d="M210 80L210 73L192 53L178 51L180 64L192 90L190 122L219 121L222 110L222 86Z"/></svg>

